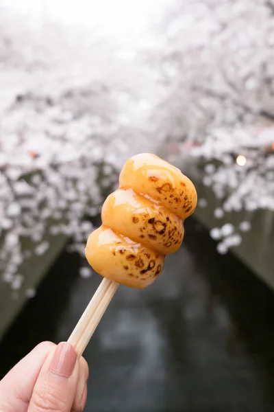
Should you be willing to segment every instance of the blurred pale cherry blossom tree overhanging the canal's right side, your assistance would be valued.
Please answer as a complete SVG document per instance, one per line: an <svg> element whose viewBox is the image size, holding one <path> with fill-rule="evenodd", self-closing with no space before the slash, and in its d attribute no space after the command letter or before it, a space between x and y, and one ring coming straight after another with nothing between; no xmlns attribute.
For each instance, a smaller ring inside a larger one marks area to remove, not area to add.
<svg viewBox="0 0 274 412"><path fill-rule="evenodd" d="M158 127L181 142L177 164L191 170L190 163L206 163L199 179L223 202L216 218L273 210L273 1L175 1L158 35L161 47L149 49L147 59L166 88ZM232 231L214 228L212 237L228 239ZM225 253L240 241L236 236L218 249Z"/></svg>

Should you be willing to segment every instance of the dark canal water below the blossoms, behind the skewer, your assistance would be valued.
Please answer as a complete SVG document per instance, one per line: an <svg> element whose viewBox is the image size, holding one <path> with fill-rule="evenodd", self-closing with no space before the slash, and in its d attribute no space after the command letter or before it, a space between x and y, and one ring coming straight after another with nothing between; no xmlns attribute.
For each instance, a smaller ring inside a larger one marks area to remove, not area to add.
<svg viewBox="0 0 274 412"><path fill-rule="evenodd" d="M63 253L0 345L0 376L69 337L101 281ZM197 222L147 290L119 287L85 352L86 411L274 410L274 294Z"/></svg>

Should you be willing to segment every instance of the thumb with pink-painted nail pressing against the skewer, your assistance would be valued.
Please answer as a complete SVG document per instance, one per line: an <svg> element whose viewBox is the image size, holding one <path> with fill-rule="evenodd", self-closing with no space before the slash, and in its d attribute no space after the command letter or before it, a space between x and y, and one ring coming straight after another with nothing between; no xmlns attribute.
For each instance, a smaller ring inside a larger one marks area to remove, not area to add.
<svg viewBox="0 0 274 412"><path fill-rule="evenodd" d="M71 412L79 376L74 348L59 343L50 354L36 380L28 412Z"/></svg>

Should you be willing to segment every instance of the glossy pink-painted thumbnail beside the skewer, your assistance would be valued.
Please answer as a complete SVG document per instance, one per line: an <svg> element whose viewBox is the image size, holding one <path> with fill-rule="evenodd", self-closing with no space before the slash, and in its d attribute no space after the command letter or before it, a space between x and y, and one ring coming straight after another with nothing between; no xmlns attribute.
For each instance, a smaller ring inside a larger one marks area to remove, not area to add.
<svg viewBox="0 0 274 412"><path fill-rule="evenodd" d="M75 363L77 361L77 354L70 343L61 342L56 347L49 371L53 374L69 378L73 373Z"/></svg>

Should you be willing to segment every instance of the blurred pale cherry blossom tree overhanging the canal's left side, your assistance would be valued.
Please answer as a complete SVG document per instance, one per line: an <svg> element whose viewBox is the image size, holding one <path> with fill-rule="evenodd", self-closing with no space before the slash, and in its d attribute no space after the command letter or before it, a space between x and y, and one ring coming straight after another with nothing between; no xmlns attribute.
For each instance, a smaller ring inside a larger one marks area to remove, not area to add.
<svg viewBox="0 0 274 412"><path fill-rule="evenodd" d="M49 236L84 253L125 159L158 144L148 122L157 93L111 39L1 11L0 271L16 290Z"/></svg>

